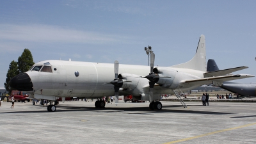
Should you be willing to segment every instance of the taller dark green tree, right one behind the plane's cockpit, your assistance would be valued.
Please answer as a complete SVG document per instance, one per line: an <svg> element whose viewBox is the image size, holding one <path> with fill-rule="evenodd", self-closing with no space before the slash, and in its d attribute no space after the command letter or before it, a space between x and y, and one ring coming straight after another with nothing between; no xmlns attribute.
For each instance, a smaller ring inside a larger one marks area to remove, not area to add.
<svg viewBox="0 0 256 144"><path fill-rule="evenodd" d="M20 73L27 72L30 67L35 64L33 56L29 49L24 49L21 56L18 58L18 70Z"/></svg>

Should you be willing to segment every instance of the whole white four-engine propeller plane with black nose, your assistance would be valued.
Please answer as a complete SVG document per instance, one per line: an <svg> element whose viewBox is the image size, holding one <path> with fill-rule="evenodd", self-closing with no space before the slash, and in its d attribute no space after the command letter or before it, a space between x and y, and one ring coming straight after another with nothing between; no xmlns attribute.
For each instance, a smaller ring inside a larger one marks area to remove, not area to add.
<svg viewBox="0 0 256 144"><path fill-rule="evenodd" d="M248 67L206 72L204 35L200 36L195 56L186 63L172 67L154 67L154 58L155 54L152 52L150 67L118 65L118 61L114 64L40 61L35 63L28 72L13 77L10 86L31 93L29 95L31 98L51 100L48 111L56 111L56 106L52 105L56 97L98 99L95 107L104 108L105 102L101 98L114 93L116 104L118 95L132 95L133 99L149 100L150 109L162 109L161 102L157 101L162 93L173 93L176 89L187 91L206 83L222 83L253 77L248 74L230 74Z"/></svg>

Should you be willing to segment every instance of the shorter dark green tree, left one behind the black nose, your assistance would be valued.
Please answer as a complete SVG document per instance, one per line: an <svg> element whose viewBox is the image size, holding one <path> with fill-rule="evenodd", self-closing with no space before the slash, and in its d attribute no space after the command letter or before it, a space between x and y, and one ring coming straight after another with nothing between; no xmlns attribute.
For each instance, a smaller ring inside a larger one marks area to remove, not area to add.
<svg viewBox="0 0 256 144"><path fill-rule="evenodd" d="M12 88L10 87L10 80L12 79L12 77L16 76L17 74L19 74L18 63L13 60L9 65L9 70L6 74L6 80L4 83L4 88L9 93L12 93Z"/></svg>

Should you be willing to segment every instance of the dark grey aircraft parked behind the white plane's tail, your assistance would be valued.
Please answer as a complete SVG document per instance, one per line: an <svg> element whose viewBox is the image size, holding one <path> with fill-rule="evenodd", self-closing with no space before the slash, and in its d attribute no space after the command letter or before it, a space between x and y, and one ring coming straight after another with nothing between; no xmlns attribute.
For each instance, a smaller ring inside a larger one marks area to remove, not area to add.
<svg viewBox="0 0 256 144"><path fill-rule="evenodd" d="M209 59L207 62L207 72L214 72L220 70L216 62ZM223 84L217 85L221 88L228 90L233 93L238 93L244 97L255 97L256 96L256 83L245 84L245 83L234 83L230 81L225 81Z"/></svg>

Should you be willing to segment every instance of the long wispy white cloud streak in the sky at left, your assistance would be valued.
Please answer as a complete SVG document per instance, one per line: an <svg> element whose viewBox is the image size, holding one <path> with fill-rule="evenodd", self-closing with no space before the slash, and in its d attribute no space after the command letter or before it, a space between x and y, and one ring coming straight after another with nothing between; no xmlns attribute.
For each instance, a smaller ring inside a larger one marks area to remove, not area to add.
<svg viewBox="0 0 256 144"><path fill-rule="evenodd" d="M120 41L119 36L42 24L0 24L0 39L19 42L108 43Z"/></svg>

